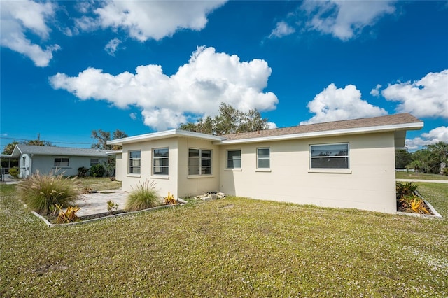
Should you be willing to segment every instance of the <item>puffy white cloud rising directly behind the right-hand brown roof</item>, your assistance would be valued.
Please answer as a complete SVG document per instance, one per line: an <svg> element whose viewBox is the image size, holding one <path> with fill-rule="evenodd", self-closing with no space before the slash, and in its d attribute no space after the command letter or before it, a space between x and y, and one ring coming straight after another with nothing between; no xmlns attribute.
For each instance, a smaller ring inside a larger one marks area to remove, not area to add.
<svg viewBox="0 0 448 298"><path fill-rule="evenodd" d="M346 85L344 88L337 88L331 83L321 93L317 94L307 107L313 117L307 121L300 122L300 125L375 117L386 115L384 108L379 108L361 99L361 92L354 85Z"/></svg>

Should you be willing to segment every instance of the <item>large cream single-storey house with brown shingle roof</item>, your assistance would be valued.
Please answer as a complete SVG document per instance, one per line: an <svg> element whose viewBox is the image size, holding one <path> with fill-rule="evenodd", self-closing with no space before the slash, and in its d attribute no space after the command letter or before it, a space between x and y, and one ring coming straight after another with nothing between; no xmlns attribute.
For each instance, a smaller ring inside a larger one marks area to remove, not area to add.
<svg viewBox="0 0 448 298"><path fill-rule="evenodd" d="M155 181L160 195L210 191L297 204L395 213L395 149L423 122L404 113L213 136L179 129L123 145L123 190Z"/></svg>

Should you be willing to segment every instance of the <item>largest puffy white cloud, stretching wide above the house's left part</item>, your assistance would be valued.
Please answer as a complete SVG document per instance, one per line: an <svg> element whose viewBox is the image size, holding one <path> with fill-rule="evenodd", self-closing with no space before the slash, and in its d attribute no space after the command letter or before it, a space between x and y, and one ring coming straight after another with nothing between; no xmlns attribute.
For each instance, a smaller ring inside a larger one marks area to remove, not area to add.
<svg viewBox="0 0 448 298"><path fill-rule="evenodd" d="M277 97L262 91L270 75L264 60L240 62L237 55L200 47L172 76L165 75L162 66L150 64L117 76L93 68L76 77L57 73L50 77L50 84L82 100L105 100L120 108L138 106L146 125L164 130L197 116L213 117L221 102L241 111L273 110Z"/></svg>

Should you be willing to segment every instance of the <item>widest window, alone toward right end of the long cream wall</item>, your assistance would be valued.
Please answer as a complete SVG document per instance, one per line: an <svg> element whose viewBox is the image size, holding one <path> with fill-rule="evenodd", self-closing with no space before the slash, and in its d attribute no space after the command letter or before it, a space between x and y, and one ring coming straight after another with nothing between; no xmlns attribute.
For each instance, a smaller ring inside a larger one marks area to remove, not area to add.
<svg viewBox="0 0 448 298"><path fill-rule="evenodd" d="M311 169L349 169L349 144L309 146Z"/></svg>

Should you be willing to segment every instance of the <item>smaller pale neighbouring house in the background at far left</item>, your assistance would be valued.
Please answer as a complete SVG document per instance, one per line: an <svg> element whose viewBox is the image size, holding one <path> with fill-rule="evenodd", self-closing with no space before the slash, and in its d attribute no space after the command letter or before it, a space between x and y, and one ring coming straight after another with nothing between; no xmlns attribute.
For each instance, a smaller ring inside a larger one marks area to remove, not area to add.
<svg viewBox="0 0 448 298"><path fill-rule="evenodd" d="M90 169L107 161L106 150L23 144L16 145L11 156L19 158L20 178L27 178L36 171L46 174L56 170L64 176L76 176L81 166Z"/></svg>

